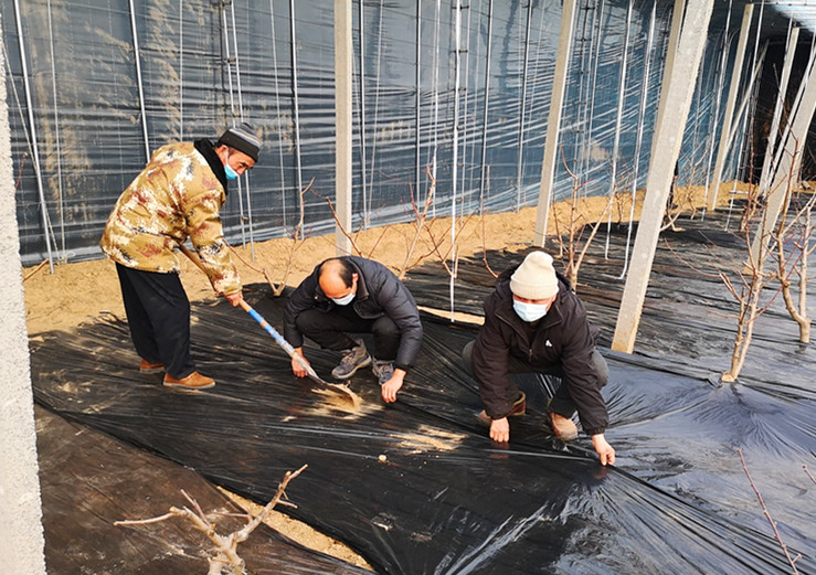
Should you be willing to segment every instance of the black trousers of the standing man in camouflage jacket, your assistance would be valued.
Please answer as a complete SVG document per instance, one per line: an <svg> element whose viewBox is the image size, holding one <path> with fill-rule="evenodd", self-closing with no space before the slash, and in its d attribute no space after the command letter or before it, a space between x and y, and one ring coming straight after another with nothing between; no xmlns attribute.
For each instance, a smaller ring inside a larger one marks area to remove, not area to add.
<svg viewBox="0 0 816 575"><path fill-rule="evenodd" d="M163 363L173 377L195 371L190 355L190 300L178 274L142 271L116 264L130 339L142 359Z"/></svg>

